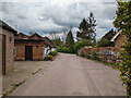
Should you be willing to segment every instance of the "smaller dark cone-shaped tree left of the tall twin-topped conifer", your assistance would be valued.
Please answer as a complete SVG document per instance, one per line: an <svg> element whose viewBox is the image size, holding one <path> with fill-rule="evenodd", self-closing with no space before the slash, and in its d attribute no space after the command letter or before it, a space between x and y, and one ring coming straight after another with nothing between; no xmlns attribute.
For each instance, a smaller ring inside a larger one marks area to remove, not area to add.
<svg viewBox="0 0 131 98"><path fill-rule="evenodd" d="M73 35L72 35L71 30L68 33L68 36L67 36L67 39L66 39L66 45L68 47L72 47L74 45L74 39L73 39Z"/></svg>

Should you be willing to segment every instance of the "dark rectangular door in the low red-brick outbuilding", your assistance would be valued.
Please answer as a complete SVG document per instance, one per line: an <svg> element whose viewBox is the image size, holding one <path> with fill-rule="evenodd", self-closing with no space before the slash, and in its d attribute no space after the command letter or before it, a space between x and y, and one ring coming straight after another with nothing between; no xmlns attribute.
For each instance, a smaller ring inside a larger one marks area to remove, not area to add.
<svg viewBox="0 0 131 98"><path fill-rule="evenodd" d="M25 46L25 60L33 60L33 46Z"/></svg>

